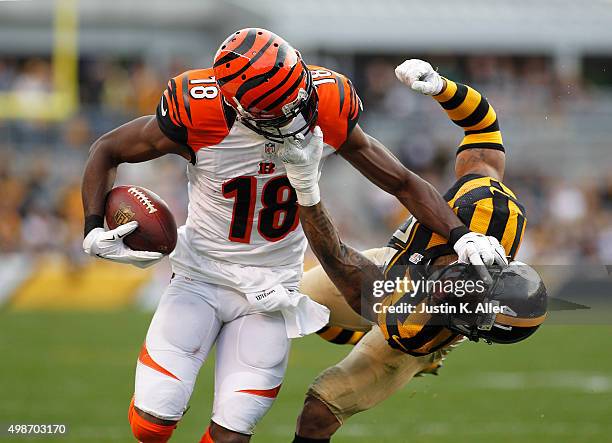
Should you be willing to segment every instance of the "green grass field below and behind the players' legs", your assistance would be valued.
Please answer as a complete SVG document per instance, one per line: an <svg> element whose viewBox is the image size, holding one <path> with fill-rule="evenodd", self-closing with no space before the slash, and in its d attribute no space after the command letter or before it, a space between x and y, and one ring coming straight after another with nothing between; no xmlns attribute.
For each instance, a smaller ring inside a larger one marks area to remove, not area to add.
<svg viewBox="0 0 612 443"><path fill-rule="evenodd" d="M127 406L150 314L0 313L0 423L65 423L58 438L2 441L131 442ZM335 442L612 442L610 326L548 326L512 346L469 343L438 377L413 380L353 417ZM348 347L294 341L289 371L253 438L290 442L313 377ZM212 361L200 373L176 442L207 426Z"/></svg>

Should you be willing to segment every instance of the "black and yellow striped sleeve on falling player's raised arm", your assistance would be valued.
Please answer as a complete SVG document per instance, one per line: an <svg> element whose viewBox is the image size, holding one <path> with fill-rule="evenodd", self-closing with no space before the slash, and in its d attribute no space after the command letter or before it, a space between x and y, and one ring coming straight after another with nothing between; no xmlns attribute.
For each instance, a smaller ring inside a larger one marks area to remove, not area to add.
<svg viewBox="0 0 612 443"><path fill-rule="evenodd" d="M446 89L434 99L465 131L457 153L472 148L504 151L495 110L478 91L446 79Z"/></svg>

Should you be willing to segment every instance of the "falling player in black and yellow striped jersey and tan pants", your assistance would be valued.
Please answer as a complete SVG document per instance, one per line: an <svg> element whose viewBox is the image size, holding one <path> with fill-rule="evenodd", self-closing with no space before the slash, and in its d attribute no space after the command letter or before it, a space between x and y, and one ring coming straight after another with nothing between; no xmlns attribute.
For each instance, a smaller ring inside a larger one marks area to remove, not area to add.
<svg viewBox="0 0 612 443"><path fill-rule="evenodd" d="M502 253L514 260L525 209L501 181L505 151L495 111L477 91L441 77L422 60L405 61L396 75L413 90L432 95L464 129L455 162L457 182L445 199L466 226L497 238ZM324 131L323 138L319 128L309 142L300 138L288 139L280 156L297 192L302 227L321 263L304 275L300 290L330 309L330 323L320 331L323 338L357 342L345 359L315 379L298 418L294 443L324 443L352 415L374 407L414 376L435 373L447 352L466 338L496 343L527 338L546 315L546 289L538 274L520 262L488 267L490 275L484 276L484 267L459 263L465 260L456 248L415 217L386 247L363 254L352 249L340 239L319 198L311 198L319 195ZM482 282L487 289L472 290L472 298L464 299L470 301L467 313L431 313L428 306L452 306L447 302L456 301L455 294L421 286L425 289L394 289L376 297L377 282L400 276L417 283ZM479 314L478 306L500 311Z"/></svg>

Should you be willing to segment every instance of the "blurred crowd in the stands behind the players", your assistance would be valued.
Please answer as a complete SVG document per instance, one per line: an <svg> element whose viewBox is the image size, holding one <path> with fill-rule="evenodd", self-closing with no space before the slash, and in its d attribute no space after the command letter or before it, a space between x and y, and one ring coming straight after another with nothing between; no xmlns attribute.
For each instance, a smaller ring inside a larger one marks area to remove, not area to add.
<svg viewBox="0 0 612 443"><path fill-rule="evenodd" d="M434 105L423 110L395 81L398 61L356 59L351 76L367 109L362 124L443 193L452 183L455 148L448 138L436 136L437 126L424 121L444 124L446 131L453 128ZM546 58L438 57L437 62L445 75L495 91L488 95L494 95L498 114L552 115L595 96L585 79L567 83L557 78ZM62 123L0 120L0 254L56 252L82 262L79 188L89 146L133 116L153 113L167 78L187 67L181 61L160 69L143 60L84 59L78 115ZM36 100L51 84L48 60L0 60L0 93L12 91L23 100ZM612 169L607 176L566 178L548 172L551 161L542 158L541 164L507 171L506 184L527 208L521 258L541 264L612 263ZM350 243L380 245L407 214L343 163L333 159L326 165L333 173L324 171L325 198ZM119 181L154 189L182 222L184 167L182 159L163 158L122 167ZM357 192L334 192L343 187L356 187ZM349 200L347 194L352 195Z"/></svg>

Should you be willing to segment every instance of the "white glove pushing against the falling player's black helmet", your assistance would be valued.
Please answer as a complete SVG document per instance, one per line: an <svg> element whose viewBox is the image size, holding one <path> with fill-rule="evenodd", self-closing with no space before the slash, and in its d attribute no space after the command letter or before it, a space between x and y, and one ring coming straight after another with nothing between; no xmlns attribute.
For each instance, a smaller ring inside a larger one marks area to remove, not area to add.
<svg viewBox="0 0 612 443"><path fill-rule="evenodd" d="M506 251L495 237L470 231L457 240L454 249L460 263L471 263L475 266L489 266L493 263L508 265Z"/></svg>

